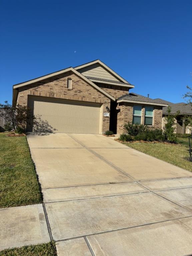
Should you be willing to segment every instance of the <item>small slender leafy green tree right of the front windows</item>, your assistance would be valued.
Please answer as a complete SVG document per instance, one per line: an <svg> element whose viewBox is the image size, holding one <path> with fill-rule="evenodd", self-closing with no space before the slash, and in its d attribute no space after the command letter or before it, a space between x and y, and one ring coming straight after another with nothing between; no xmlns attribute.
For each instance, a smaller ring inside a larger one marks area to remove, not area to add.
<svg viewBox="0 0 192 256"><path fill-rule="evenodd" d="M164 135L165 139L169 142L176 142L176 134L174 134L174 125L175 125L175 117L179 114L177 112L175 115L171 115L171 107L167 108L167 115L165 116L165 127L164 127Z"/></svg>

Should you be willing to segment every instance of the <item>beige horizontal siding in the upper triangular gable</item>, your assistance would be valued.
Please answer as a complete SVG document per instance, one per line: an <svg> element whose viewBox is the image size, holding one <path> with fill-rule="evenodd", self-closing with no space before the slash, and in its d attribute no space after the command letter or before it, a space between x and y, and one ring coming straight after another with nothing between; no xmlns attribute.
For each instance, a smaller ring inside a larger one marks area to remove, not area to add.
<svg viewBox="0 0 192 256"><path fill-rule="evenodd" d="M112 80L112 81L120 81L114 75L109 73L106 69L101 67L99 64L93 64L91 66L78 69L78 72L80 72L82 75L88 76L88 77L108 79L108 80Z"/></svg>

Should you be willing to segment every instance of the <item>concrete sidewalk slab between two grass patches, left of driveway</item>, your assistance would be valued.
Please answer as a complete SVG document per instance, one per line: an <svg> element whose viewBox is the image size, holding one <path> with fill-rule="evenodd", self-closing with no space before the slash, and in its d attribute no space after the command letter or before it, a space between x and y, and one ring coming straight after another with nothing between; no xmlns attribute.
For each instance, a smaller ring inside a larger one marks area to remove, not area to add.
<svg viewBox="0 0 192 256"><path fill-rule="evenodd" d="M0 250L50 242L42 204L0 209Z"/></svg>

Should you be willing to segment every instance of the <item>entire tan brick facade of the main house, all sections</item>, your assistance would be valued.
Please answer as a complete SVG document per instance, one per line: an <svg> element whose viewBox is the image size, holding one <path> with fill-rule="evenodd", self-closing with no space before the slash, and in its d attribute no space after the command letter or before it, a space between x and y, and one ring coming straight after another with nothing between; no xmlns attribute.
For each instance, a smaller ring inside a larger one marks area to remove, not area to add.
<svg viewBox="0 0 192 256"><path fill-rule="evenodd" d="M72 79L72 89L67 88L67 80ZM120 86L97 84L114 98L128 94L129 89ZM85 82L78 75L69 71L39 82L18 88L17 104L27 106L28 95L49 98L95 102L103 104L103 113L106 107L110 108L110 99ZM133 121L133 103L119 103L117 105L117 134L124 133L124 124ZM102 113L102 132L109 130L110 118ZM113 113L111 113L113 114ZM145 120L145 106L142 106L141 123ZM154 106L153 127L162 127L162 107Z"/></svg>

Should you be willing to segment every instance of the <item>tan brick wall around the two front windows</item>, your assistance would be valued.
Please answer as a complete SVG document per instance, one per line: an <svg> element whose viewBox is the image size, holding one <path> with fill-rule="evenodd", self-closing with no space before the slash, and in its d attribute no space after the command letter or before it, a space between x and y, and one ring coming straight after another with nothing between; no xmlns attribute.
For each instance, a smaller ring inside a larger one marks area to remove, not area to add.
<svg viewBox="0 0 192 256"><path fill-rule="evenodd" d="M119 103L117 109L117 134L125 133L124 124L133 122L133 105L132 103ZM141 110L141 124L145 123L145 106ZM162 128L162 108L154 106L153 128Z"/></svg>

